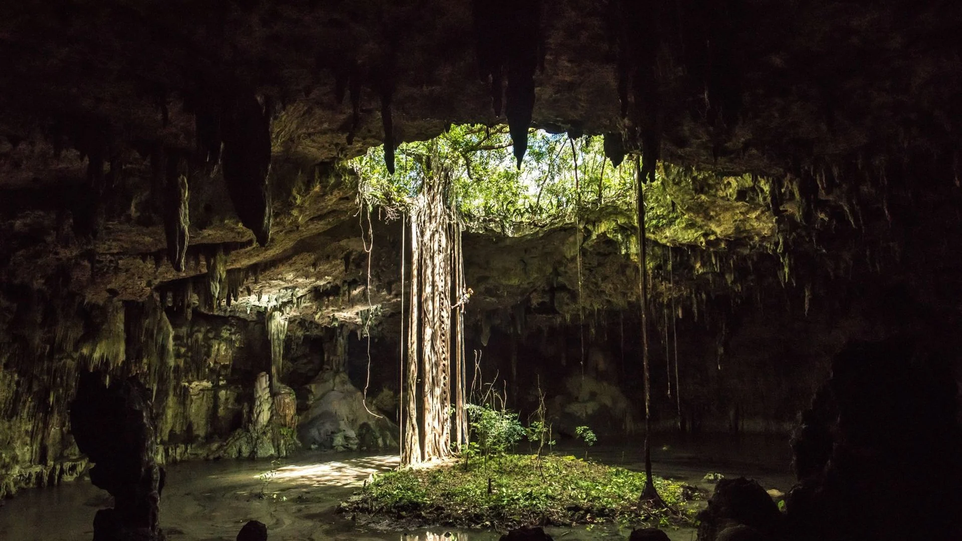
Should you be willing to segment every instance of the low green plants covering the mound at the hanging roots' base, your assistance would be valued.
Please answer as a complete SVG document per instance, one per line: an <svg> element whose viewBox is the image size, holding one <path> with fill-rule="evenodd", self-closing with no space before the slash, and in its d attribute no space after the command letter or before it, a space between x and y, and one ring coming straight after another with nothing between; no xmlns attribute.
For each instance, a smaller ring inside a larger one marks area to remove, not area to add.
<svg viewBox="0 0 962 541"><path fill-rule="evenodd" d="M536 462L542 467L533 467ZM680 483L655 477L659 494L680 512L674 515L638 502L645 480L643 473L573 456L509 454L501 458L496 477L490 477L479 463L467 469L447 464L389 472L375 477L342 503L342 510L416 521L422 526L468 528L692 523L696 506L689 502L690 491Z"/></svg>

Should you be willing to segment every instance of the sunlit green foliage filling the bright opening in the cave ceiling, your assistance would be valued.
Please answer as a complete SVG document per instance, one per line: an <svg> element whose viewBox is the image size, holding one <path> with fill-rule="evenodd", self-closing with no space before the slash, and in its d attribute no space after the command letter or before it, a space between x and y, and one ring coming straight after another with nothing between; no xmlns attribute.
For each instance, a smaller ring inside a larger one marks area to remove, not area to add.
<svg viewBox="0 0 962 541"><path fill-rule="evenodd" d="M634 208L634 165L612 167L600 137L570 140L531 130L520 170L511 148L507 126L462 125L427 142L401 144L393 175L383 147L368 150L352 167L361 178L362 199L403 209L441 160L452 172L452 198L468 226L509 235L572 223L602 207Z"/></svg>

